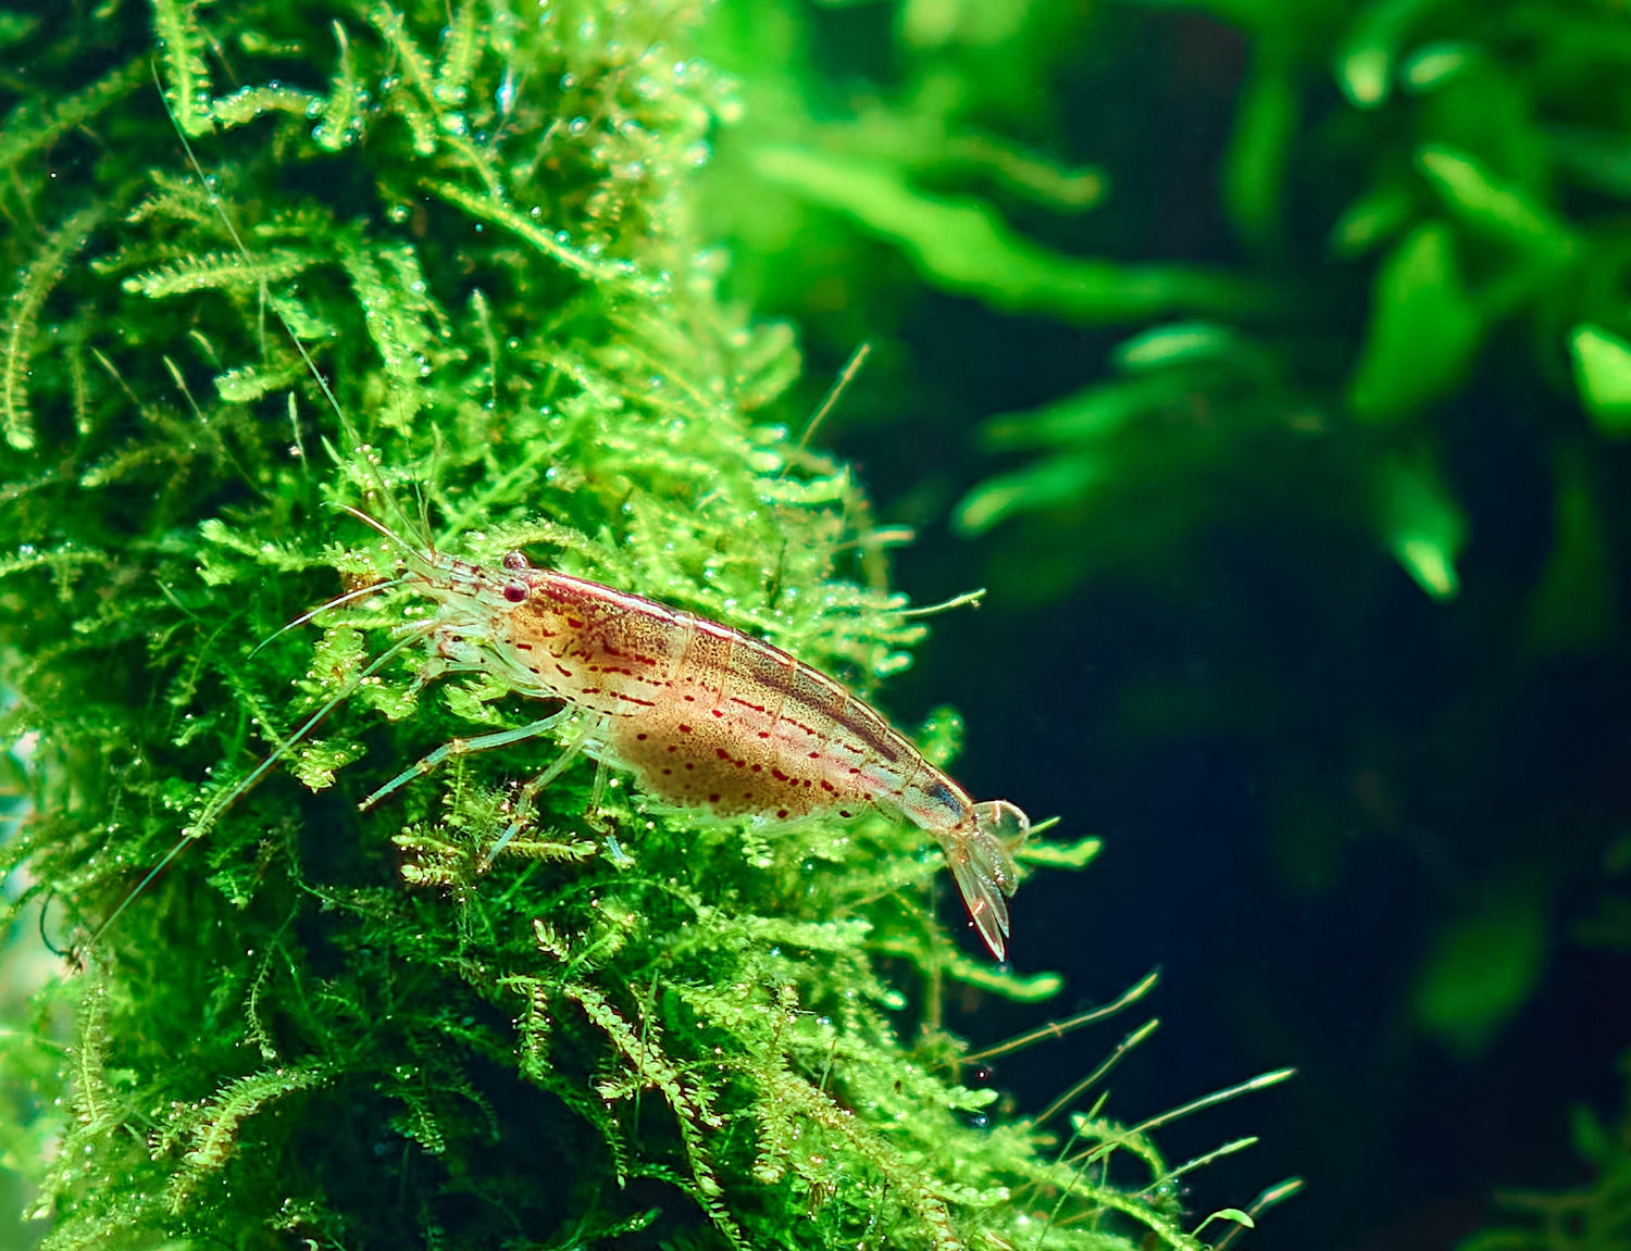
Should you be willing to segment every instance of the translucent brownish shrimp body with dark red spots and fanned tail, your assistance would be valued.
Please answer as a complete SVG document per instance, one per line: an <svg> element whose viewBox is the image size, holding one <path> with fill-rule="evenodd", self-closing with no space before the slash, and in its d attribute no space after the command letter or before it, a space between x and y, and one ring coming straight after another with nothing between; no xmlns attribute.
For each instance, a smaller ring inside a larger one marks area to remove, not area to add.
<svg viewBox="0 0 1631 1251"><path fill-rule="evenodd" d="M432 664L566 701L590 718L582 750L661 802L763 820L864 807L907 817L939 842L975 926L1003 957L1024 812L975 804L840 683L737 630L535 568L519 551L493 572L416 561L408 582L440 605L416 626L434 638Z"/></svg>

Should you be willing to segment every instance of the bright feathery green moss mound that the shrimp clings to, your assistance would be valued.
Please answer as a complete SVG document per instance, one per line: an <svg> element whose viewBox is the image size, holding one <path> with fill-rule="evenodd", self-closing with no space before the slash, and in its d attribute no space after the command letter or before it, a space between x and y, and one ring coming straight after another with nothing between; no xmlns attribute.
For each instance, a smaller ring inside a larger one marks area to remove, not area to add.
<svg viewBox="0 0 1631 1251"><path fill-rule="evenodd" d="M414 649L359 680L400 594L279 633L398 571L351 506L864 693L907 664L891 532L789 439L793 334L690 215L734 109L700 15L0 15L5 863L78 944L3 1044L44 1246L1199 1246L1145 1134L1062 1145L959 1081L949 987L1059 982L964 954L922 833L615 776L586 814L579 767L488 866L537 744L356 802L537 706Z"/></svg>

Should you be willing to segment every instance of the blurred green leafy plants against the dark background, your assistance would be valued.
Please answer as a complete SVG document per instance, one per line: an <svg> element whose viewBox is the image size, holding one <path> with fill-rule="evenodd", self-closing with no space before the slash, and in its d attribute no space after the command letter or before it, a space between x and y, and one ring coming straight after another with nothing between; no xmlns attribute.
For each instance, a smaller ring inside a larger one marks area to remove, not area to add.
<svg viewBox="0 0 1631 1251"><path fill-rule="evenodd" d="M1003 315L1130 326L1107 369L1090 362L1078 388L980 427L983 447L1011 463L962 496L953 524L987 542L1000 602L1045 605L1107 577L1192 592L1205 581L1189 564L1200 537L1271 499L1287 540L1310 524L1365 537L1448 602L1479 524L1453 445L1476 440L1466 429L1483 395L1520 387L1553 519L1533 538L1549 555L1523 590L1512 664L1611 646L1620 574L1600 462L1631 429L1631 26L1616 7L1120 7L1209 15L1222 23L1207 24L1210 46L1244 54L1215 194L1236 259L1210 267L1044 241L1114 248L1137 236L1129 217L1156 212L1117 207L1116 170L1041 155L1075 142L1059 111L1101 16L1036 5L1000 7L998 20L954 0L868 7L892 15L892 31L874 23L892 33L889 57L843 78L801 69L819 64L811 10L750 8L727 10L736 26L721 29L737 42L721 59L754 65L745 96L780 109L721 145L716 199L729 214L727 199L789 197L765 269L820 271L809 292L829 292L793 307L824 300L833 312L812 315L838 339L855 308L887 325L879 310L907 297L882 250L923 284ZM850 11L816 10L827 24ZM1130 150L1155 161L1166 137L1140 139ZM1050 173L1016 189L948 157L969 145ZM1091 197L1060 191L1088 179ZM1098 236L1067 228L1090 210L1112 219ZM732 228L773 243L745 217ZM767 292L773 277L754 277L755 294L786 298ZM1262 558L1316 584L1300 543ZM1282 842L1321 837L1303 822ZM1456 1049L1487 1044L1522 1008L1554 928L1553 876L1502 873L1504 884L1463 892L1419 977L1417 1024ZM1484 895L1525 922L1497 926L1504 972L1484 967L1481 987L1456 992L1453 970L1471 969L1453 953L1492 923Z"/></svg>

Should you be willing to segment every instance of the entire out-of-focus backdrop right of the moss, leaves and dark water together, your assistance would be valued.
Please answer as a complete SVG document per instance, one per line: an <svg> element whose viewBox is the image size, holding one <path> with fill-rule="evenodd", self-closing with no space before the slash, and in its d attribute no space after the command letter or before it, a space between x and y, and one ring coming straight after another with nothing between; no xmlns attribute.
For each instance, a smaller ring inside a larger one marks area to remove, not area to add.
<svg viewBox="0 0 1631 1251"><path fill-rule="evenodd" d="M948 654L1024 639L1001 682L1045 692L982 742L977 679L977 757L1151 847L1094 933L1161 882L1228 935L1197 980L1240 1052L1298 1060L1318 1160L1261 1236L1443 1244L1574 1155L1613 1210L1623 1143L1564 1130L1631 1044L1584 941L1631 829L1624 8L727 13L737 281L814 359L876 339L835 442L925 528L913 584L990 587Z"/></svg>

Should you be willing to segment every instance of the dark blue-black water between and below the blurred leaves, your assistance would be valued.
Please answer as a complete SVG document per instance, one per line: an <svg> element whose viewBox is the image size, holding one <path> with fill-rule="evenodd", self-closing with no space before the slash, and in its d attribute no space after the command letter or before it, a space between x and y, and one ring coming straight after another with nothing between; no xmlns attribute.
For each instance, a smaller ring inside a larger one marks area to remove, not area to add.
<svg viewBox="0 0 1631 1251"><path fill-rule="evenodd" d="M817 64L837 82L887 78L876 64L887 21L881 7L820 11ZM1240 263L1212 188L1248 54L1194 13L1106 20L1080 73L1055 83L1072 145L1055 155L1101 163L1116 192L1099 214L1024 225L1076 253ZM1323 93L1310 113L1337 109L1329 80ZM1355 178L1306 166L1288 186L1287 264L1315 271L1329 294L1316 316L1349 331L1368 269L1333 264L1323 232ZM905 724L954 703L969 724L957 771L974 793L1059 814L1060 837L1106 840L1086 873L1039 874L1014 905L1014 966L1063 972L1065 995L1042 1008L974 998L954 1024L987 1044L1163 972L1135 1013L1001 1060L992 1083L1036 1111L1145 1008L1163 1024L1109 1080L1120 1119L1295 1067L1290 1085L1160 1135L1173 1161L1262 1138L1189 1176L1197 1213L1306 1179L1248 1236L1266 1251L1452 1246L1492 1220L1501 1187L1585 1182L1571 1107L1618 1114L1631 993L1624 954L1584 946L1571 926L1603 891L1605 837L1628 825L1631 670L1618 630L1608 646L1541 661L1520 638L1553 540L1549 422L1577 421L1572 400L1535 377L1510 333L1437 414L1471 520L1450 602L1432 602L1350 517L1308 507L1323 478L1341 489L1344 468L1297 447L1199 486L1174 476L1174 504L1202 489L1227 507L1160 568L1111 561L1062 597L1032 597L1021 542L970 542L946 524L993 468L977 426L1103 375L1125 331L928 289L899 307L881 364L827 437L881 515L920 530L895 563L900 587L918 602L987 582L995 594L938 618L886 701ZM807 305L788 312L807 328L814 403L866 312L827 325ZM1631 468L1621 449L1593 455L1610 481ZM1623 520L1611 515L1613 533ZM1122 538L1114 525L1036 535L1026 542ZM1611 572L1623 599L1624 568ZM1287 830L1319 848L1310 863L1287 850ZM1546 884L1545 967L1512 1019L1453 1049L1412 1018L1412 985L1435 931L1504 879Z"/></svg>

